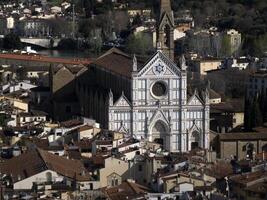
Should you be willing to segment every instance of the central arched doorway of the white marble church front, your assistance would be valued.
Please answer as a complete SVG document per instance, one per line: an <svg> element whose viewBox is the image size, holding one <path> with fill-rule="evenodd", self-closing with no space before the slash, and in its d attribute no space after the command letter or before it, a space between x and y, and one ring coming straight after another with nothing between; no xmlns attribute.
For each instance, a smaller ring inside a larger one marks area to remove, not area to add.
<svg viewBox="0 0 267 200"><path fill-rule="evenodd" d="M166 148L167 126L162 121L157 121L152 128L152 141Z"/></svg>

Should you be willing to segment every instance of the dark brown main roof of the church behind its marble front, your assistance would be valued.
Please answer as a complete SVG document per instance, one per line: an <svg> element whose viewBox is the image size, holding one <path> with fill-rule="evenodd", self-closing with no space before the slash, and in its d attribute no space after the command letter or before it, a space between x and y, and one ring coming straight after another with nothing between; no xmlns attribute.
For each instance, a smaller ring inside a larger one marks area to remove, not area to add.
<svg viewBox="0 0 267 200"><path fill-rule="evenodd" d="M142 63L140 63L140 61L138 62L138 67L140 68ZM112 71L118 75L131 78L133 58L116 48L110 49L92 64Z"/></svg>

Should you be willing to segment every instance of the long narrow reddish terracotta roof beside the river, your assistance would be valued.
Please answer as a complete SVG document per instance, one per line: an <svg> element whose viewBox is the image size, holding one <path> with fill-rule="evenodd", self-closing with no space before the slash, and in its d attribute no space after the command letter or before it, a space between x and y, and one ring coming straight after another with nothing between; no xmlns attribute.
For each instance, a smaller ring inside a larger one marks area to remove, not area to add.
<svg viewBox="0 0 267 200"><path fill-rule="evenodd" d="M20 54L0 54L0 59L27 60L36 62L62 63L62 64L90 64L90 59L65 59L46 57L42 55L20 55Z"/></svg>

